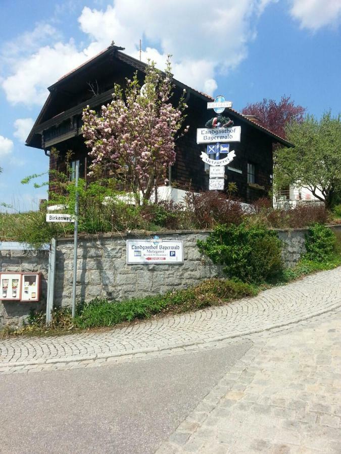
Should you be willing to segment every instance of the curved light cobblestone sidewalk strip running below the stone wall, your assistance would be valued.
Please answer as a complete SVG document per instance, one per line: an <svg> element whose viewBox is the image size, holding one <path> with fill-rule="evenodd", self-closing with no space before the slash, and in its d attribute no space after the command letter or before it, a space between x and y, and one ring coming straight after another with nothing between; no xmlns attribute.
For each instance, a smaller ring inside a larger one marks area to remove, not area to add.
<svg viewBox="0 0 341 454"><path fill-rule="evenodd" d="M222 339L297 323L341 306L341 267L255 298L98 333L0 341L0 374L88 367L151 352L209 347Z"/></svg>

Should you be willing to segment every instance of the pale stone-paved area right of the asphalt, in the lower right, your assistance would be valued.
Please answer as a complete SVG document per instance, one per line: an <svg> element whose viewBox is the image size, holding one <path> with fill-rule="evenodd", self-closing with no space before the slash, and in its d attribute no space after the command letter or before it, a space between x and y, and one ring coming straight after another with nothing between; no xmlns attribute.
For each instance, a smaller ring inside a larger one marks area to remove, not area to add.
<svg viewBox="0 0 341 454"><path fill-rule="evenodd" d="M157 454L341 453L341 310L251 337Z"/></svg>

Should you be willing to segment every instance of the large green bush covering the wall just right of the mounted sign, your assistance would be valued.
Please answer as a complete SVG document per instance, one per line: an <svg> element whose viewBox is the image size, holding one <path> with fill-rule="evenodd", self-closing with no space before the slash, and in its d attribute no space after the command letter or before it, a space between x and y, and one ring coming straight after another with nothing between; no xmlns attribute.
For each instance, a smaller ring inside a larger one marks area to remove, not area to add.
<svg viewBox="0 0 341 454"><path fill-rule="evenodd" d="M229 278L260 283L282 269L281 241L261 224L217 225L198 246L214 263L225 265Z"/></svg>

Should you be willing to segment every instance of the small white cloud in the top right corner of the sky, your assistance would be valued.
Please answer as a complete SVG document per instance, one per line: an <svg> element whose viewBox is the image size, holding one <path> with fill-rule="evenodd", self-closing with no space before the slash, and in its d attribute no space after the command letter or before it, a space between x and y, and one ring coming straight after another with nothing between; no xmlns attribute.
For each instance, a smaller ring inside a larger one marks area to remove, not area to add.
<svg viewBox="0 0 341 454"><path fill-rule="evenodd" d="M337 26L341 18L341 0L291 0L290 14L301 28L316 31L324 26Z"/></svg>

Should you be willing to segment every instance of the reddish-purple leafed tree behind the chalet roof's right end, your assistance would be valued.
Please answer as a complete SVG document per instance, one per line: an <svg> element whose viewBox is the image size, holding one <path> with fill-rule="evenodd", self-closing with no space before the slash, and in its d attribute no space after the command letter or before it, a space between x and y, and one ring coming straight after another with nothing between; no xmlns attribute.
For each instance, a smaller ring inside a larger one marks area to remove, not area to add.
<svg viewBox="0 0 341 454"><path fill-rule="evenodd" d="M241 113L254 115L262 126L285 138L285 126L292 121L301 123L305 110L302 105L295 105L290 96L284 95L278 104L274 99L264 98L263 101L247 104Z"/></svg>

